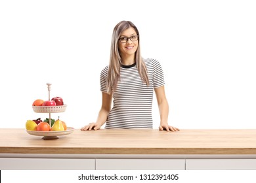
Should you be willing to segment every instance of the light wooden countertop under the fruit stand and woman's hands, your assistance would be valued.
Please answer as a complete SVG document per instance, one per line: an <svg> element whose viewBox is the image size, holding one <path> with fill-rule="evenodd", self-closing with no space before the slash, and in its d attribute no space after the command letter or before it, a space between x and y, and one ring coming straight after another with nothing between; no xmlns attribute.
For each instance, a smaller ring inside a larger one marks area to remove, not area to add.
<svg viewBox="0 0 256 183"><path fill-rule="evenodd" d="M100 129L43 140L25 129L0 129L10 154L256 154L256 129Z"/></svg>

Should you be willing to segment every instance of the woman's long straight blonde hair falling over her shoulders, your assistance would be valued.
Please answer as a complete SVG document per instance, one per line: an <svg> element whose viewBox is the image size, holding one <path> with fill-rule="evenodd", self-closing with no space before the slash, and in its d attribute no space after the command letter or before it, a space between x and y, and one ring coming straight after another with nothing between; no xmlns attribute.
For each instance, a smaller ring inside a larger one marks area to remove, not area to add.
<svg viewBox="0 0 256 183"><path fill-rule="evenodd" d="M121 35L121 32L125 31L133 27L139 36L139 31L137 27L130 21L121 21L115 27L112 34L112 42L111 42L111 51L110 51L110 63L108 65L108 78L106 81L107 93L114 92L116 90L117 81L120 76L120 67L121 67L121 56L119 54L118 49L118 41ZM135 62L137 65L137 69L139 71L140 78L143 82L149 86L148 75L146 71L146 65L140 55L140 44L138 39L138 48L135 52Z"/></svg>

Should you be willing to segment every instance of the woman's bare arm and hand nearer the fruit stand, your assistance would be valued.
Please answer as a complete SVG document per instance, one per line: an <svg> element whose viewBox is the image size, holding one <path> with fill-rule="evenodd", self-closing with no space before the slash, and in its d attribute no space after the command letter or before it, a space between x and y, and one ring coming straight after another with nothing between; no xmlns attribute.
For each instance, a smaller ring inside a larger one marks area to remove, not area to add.
<svg viewBox="0 0 256 183"><path fill-rule="evenodd" d="M91 130L91 129L100 129L102 125L106 123L108 118L108 114L111 109L112 104L112 93L104 93L102 92L102 105L100 108L100 112L98 112L98 118L95 123L90 123L89 125L85 125L81 128L81 130Z"/></svg>

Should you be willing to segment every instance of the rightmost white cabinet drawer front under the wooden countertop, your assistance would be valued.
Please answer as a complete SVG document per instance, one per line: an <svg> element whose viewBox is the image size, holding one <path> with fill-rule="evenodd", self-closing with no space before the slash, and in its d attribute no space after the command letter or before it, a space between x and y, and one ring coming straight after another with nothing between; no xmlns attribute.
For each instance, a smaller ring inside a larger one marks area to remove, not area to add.
<svg viewBox="0 0 256 183"><path fill-rule="evenodd" d="M186 170L256 170L256 159L186 159Z"/></svg>

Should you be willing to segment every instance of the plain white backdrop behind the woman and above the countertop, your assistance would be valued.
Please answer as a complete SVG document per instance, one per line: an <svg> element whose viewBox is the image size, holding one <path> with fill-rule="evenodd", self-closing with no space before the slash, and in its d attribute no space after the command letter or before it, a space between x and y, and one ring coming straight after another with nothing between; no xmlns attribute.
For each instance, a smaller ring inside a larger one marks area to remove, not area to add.
<svg viewBox="0 0 256 183"><path fill-rule="evenodd" d="M0 1L0 127L24 128L35 99L60 96L68 126L95 122L114 26L131 20L144 58L160 61L169 124L256 127L255 1ZM154 128L160 117L156 99Z"/></svg>

